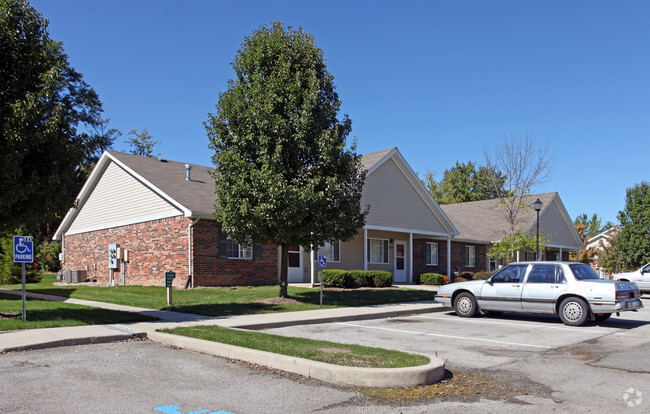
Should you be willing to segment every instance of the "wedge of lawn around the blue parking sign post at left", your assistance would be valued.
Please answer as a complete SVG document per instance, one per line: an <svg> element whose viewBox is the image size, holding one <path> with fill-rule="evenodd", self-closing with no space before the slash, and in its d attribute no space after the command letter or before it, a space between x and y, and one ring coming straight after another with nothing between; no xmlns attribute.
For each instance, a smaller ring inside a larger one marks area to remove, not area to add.
<svg viewBox="0 0 650 414"><path fill-rule="evenodd" d="M0 331L156 320L137 313L27 298L27 322L23 323L22 303L21 296L0 293L0 313L3 315L0 318Z"/></svg>

